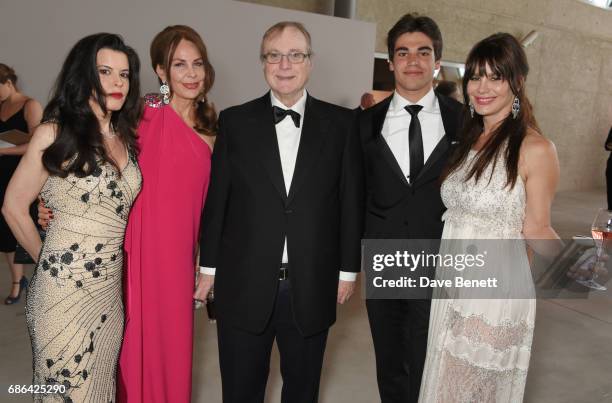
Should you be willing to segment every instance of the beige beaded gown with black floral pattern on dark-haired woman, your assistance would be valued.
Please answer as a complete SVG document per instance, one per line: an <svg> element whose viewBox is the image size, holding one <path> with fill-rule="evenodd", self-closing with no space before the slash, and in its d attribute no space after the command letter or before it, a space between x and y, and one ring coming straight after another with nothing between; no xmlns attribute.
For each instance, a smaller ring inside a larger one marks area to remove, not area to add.
<svg viewBox="0 0 612 403"><path fill-rule="evenodd" d="M141 175L121 170L50 176L40 196L53 211L26 303L33 384L61 393L35 400L110 402L123 338L123 238Z"/></svg>

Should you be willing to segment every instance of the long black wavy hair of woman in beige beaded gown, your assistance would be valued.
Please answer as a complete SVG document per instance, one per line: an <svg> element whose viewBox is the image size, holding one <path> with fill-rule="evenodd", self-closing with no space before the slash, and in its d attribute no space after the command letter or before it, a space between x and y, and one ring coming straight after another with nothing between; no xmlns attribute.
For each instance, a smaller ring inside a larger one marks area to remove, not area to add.
<svg viewBox="0 0 612 403"><path fill-rule="evenodd" d="M100 123L89 105L93 97L102 112L108 113L96 66L101 49L122 52L128 58L130 89L121 110L112 112L111 125L123 144L132 153L138 153L136 127L142 109L138 55L119 35L89 35L79 40L68 53L43 113L43 122L57 125L55 141L42 157L43 165L51 175L65 178L74 173L84 177L103 162L112 164L120 172L104 148Z"/></svg>

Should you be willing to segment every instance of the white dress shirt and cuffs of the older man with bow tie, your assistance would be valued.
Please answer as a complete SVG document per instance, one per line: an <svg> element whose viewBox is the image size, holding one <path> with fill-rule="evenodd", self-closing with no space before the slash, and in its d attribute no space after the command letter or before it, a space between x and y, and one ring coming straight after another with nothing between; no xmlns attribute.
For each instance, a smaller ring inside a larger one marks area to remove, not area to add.
<svg viewBox="0 0 612 403"><path fill-rule="evenodd" d="M304 93L302 94L300 99L292 107L287 107L274 96L274 93L272 93L272 91L270 91L272 106L278 106L282 109L291 109L300 114L300 127L295 127L295 123L289 115L285 116L285 118L278 122L275 126L276 140L278 141L278 151L280 153L281 168L283 170L285 191L287 192L287 195L289 194L289 190L291 189L291 181L293 180L293 173L295 171L295 162L297 160L298 149L300 147L300 138L302 137L302 128L304 127L306 97L307 93L306 90L304 90ZM287 254L287 237L285 236L282 263L288 262L289 257ZM214 275L215 268L200 267L200 272L204 274ZM340 272L340 280L355 281L356 278L357 273L343 271Z"/></svg>

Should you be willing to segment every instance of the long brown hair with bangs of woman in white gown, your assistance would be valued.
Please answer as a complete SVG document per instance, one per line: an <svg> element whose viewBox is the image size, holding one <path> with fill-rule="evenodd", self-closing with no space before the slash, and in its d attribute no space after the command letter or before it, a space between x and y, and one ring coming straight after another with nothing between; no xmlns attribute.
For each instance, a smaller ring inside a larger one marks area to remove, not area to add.
<svg viewBox="0 0 612 403"><path fill-rule="evenodd" d="M510 189L516 184L518 176L519 151L527 130L532 129L538 133L540 129L533 116L533 108L525 95L525 80L529 73L527 56L521 44L512 35L497 33L478 42L468 55L465 62L465 75L463 76L463 97L465 105L470 103L467 85L474 76L486 75L486 66L500 79L510 85L510 90L520 102L520 111L516 118L508 116L493 130L489 140L478 152L466 181L472 177L480 179L489 164L497 163L498 157L503 154L506 162L507 182ZM471 117L466 111L464 125L460 134L460 142L456 152L451 155L448 166L442 175L442 180L458 169L465 161L469 151L478 141L484 130L482 116L474 113Z"/></svg>

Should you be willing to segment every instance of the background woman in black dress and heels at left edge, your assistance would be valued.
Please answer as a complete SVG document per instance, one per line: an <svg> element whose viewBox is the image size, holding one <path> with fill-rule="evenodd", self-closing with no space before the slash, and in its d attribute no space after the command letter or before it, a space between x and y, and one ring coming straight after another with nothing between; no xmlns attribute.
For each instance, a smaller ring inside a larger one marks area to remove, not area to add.
<svg viewBox="0 0 612 403"><path fill-rule="evenodd" d="M15 71L6 64L0 63L0 133L18 130L23 132L25 137L26 134L33 133L41 117L40 103L21 93L17 86ZM27 142L22 145L0 148L0 205L4 201L6 187L26 148ZM6 305L18 302L21 293L28 286L23 264L15 263L16 248L17 241L4 217L0 216L0 252L6 257L13 279L11 292L4 300Z"/></svg>

